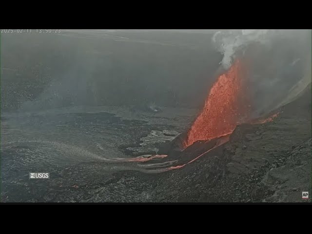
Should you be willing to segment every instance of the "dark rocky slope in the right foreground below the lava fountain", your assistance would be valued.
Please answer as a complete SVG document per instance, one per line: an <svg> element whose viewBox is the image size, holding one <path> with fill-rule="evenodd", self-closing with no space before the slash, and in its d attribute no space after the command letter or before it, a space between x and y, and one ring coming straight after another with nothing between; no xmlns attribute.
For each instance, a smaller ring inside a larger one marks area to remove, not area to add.
<svg viewBox="0 0 312 234"><path fill-rule="evenodd" d="M286 105L273 122L237 126L229 142L168 175L153 196L163 202L311 201L302 199L312 185L308 97Z"/></svg>

